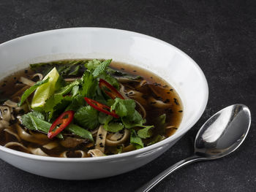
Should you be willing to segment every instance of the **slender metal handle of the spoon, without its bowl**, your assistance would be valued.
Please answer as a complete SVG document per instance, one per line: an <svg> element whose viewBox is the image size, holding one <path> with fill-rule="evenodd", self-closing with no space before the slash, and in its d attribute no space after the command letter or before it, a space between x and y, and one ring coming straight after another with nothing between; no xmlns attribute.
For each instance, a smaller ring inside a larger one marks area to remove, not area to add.
<svg viewBox="0 0 256 192"><path fill-rule="evenodd" d="M178 161L178 163L174 164L173 166L170 166L168 169L163 171L162 173L158 174L156 177L154 177L152 180L148 181L145 185L138 188L135 192L147 192L150 191L151 188L154 188L157 183L159 183L161 180L163 180L165 177L167 177L172 172L176 171L177 169L181 168L182 166L186 166L188 164L192 164L196 161L201 161L202 158L200 158L197 155L192 155L189 158L185 158L184 160Z"/></svg>

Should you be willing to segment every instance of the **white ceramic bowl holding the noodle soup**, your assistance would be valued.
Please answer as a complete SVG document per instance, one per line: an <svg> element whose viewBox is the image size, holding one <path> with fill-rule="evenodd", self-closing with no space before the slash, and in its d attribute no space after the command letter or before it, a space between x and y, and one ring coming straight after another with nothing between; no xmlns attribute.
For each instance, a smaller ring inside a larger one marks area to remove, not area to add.
<svg viewBox="0 0 256 192"><path fill-rule="evenodd" d="M128 153L96 158L53 158L0 146L0 158L26 172L64 180L90 180L129 172L164 153L205 110L206 78L195 61L159 39L111 28L64 28L13 39L0 45L0 77L28 64L64 58L113 58L141 66L164 78L178 92L184 117L176 134Z"/></svg>

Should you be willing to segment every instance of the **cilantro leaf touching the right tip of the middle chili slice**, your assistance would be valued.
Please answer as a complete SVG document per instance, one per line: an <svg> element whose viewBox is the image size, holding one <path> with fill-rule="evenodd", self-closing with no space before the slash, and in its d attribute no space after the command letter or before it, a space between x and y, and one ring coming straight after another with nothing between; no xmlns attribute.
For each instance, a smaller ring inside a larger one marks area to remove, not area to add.
<svg viewBox="0 0 256 192"><path fill-rule="evenodd" d="M111 105L111 111L115 110L116 114L120 117L132 115L135 112L136 104L134 100L116 98L114 101Z"/></svg>

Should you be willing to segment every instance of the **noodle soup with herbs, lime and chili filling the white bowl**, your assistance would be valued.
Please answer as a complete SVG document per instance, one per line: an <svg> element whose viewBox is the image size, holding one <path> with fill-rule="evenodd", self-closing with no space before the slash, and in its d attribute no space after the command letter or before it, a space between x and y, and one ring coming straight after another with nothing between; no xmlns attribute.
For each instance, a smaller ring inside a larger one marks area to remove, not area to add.
<svg viewBox="0 0 256 192"><path fill-rule="evenodd" d="M137 150L174 134L183 114L165 80L111 60L31 64L0 85L0 145L36 155Z"/></svg>

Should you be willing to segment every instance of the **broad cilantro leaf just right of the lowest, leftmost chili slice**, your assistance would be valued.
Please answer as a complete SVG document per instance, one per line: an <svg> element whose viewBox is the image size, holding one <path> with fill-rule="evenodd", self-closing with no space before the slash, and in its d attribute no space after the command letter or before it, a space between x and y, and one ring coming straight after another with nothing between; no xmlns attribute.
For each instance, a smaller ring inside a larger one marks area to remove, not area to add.
<svg viewBox="0 0 256 192"><path fill-rule="evenodd" d="M89 130L97 128L99 125L98 111L94 110L91 106L80 107L80 109L75 112L74 118L79 126L88 128Z"/></svg>

